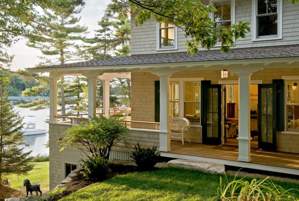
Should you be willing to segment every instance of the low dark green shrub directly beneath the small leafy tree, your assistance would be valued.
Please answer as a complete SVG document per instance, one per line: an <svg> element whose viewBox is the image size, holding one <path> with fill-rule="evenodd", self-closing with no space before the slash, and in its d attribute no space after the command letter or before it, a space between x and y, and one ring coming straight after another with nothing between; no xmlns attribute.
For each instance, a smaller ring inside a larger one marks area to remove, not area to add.
<svg viewBox="0 0 299 201"><path fill-rule="evenodd" d="M97 156L88 157L87 160L82 160L83 175L90 180L101 181L107 178L111 172L110 163L107 159Z"/></svg>

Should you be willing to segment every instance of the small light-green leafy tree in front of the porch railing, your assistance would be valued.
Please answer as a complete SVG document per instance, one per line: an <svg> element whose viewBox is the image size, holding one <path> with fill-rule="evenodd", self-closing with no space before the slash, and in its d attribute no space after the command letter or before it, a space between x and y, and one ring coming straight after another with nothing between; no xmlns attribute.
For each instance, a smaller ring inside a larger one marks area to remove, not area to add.
<svg viewBox="0 0 299 201"><path fill-rule="evenodd" d="M129 129L118 116L93 115L86 122L76 125L64 132L65 138L61 140L65 147L75 147L92 158L98 156L109 160L113 147L120 141L127 144L126 135Z"/></svg>

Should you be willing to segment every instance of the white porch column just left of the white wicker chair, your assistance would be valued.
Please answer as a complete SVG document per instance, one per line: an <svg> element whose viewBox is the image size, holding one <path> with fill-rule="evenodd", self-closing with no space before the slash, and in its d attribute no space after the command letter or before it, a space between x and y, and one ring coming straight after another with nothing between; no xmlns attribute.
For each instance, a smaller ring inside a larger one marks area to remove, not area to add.
<svg viewBox="0 0 299 201"><path fill-rule="evenodd" d="M160 151L170 151L169 76L160 76Z"/></svg>

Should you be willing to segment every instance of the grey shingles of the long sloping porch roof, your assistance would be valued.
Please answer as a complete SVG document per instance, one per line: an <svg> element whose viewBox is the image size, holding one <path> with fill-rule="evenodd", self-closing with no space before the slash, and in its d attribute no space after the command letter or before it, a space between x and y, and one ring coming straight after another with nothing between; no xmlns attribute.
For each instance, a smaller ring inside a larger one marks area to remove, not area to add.
<svg viewBox="0 0 299 201"><path fill-rule="evenodd" d="M195 53L193 56L191 56L187 52L132 55L127 57L115 57L110 59L37 67L35 69L142 65L142 64L163 64L163 63L203 62L203 61L242 60L242 59L288 58L288 57L299 57L299 45L231 49L231 51L227 54L220 52L220 50L206 50L206 51L200 51L198 53Z"/></svg>

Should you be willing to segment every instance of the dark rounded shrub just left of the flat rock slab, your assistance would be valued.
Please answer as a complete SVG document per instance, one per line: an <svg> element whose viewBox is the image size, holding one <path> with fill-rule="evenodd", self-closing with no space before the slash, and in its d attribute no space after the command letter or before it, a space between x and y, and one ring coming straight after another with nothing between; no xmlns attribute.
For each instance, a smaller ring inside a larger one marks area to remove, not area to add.
<svg viewBox="0 0 299 201"><path fill-rule="evenodd" d="M157 163L160 152L156 151L157 147L152 148L141 148L139 143L135 145L135 151L131 153L131 157L135 161L136 165L141 170L152 169Z"/></svg>

